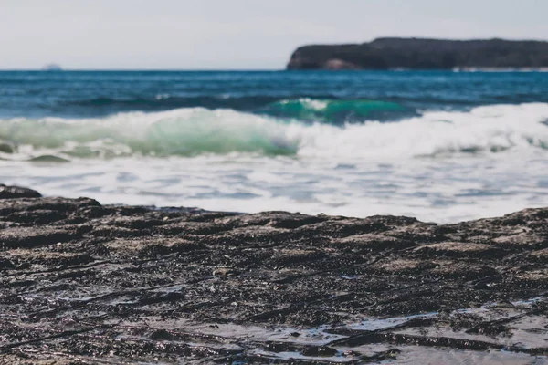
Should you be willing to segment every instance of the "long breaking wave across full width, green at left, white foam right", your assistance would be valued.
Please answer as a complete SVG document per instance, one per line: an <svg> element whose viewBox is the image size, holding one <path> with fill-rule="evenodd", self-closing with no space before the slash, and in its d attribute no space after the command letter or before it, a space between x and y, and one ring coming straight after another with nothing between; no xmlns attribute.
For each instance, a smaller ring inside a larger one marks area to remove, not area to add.
<svg viewBox="0 0 548 365"><path fill-rule="evenodd" d="M326 108L322 101L306 102L311 103L308 110ZM343 108L332 106L339 107ZM288 108L299 110L300 106ZM124 112L84 120L0 120L0 157L70 160L237 152L382 161L548 149L548 104L545 103L429 111L390 123L366 121L366 117L364 120L334 126L321 120L303 123L237 110L204 108Z"/></svg>

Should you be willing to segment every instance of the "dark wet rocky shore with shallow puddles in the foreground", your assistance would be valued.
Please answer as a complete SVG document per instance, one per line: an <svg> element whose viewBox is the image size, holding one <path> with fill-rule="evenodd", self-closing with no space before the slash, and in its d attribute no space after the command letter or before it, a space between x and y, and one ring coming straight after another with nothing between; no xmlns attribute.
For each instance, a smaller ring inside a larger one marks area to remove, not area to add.
<svg viewBox="0 0 548 365"><path fill-rule="evenodd" d="M548 209L438 225L0 186L0 363L546 363L547 264Z"/></svg>

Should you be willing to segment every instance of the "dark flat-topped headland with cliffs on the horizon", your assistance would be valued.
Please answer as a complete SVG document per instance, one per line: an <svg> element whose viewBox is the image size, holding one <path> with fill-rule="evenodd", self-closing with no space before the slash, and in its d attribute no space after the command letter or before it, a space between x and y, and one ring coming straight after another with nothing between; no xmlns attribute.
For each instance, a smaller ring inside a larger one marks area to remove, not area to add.
<svg viewBox="0 0 548 365"><path fill-rule="evenodd" d="M288 69L548 68L548 42L379 38L299 47Z"/></svg>

